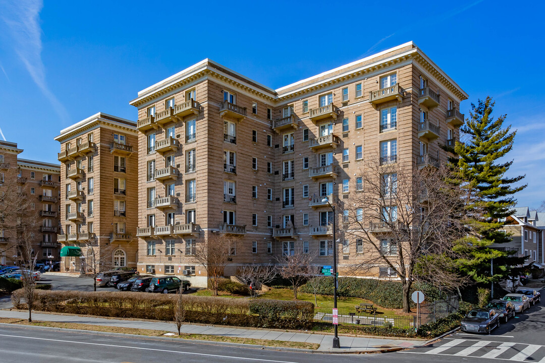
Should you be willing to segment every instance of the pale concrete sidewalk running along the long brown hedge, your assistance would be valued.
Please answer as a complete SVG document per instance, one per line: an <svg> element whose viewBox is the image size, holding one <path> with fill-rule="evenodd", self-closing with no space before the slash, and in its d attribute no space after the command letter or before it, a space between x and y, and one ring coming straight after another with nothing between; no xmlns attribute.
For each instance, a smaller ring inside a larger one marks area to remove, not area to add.
<svg viewBox="0 0 545 363"><path fill-rule="evenodd" d="M0 310L0 317L26 319L28 318L28 312ZM32 318L37 321L93 324L136 329L166 330L177 333L177 329L174 323L161 321L135 321L129 319L109 319L77 315L57 315L39 312L33 312ZM414 348L417 346L421 346L424 343L420 340L397 340L387 337L385 337L384 339L380 339L374 337L340 336L341 348L333 349L331 348L333 335L295 333L294 331L278 331L266 329L232 328L222 327L221 325L210 326L193 324L184 324L181 328L181 333L318 343L320 344L320 347L317 349L317 352L323 353L365 353L380 350L390 350L394 348ZM277 349L282 348L278 347Z"/></svg>

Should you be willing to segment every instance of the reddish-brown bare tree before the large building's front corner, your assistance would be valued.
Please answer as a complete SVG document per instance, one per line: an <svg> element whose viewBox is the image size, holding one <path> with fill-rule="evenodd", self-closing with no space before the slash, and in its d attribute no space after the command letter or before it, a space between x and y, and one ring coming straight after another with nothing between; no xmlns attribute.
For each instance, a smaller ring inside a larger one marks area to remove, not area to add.
<svg viewBox="0 0 545 363"><path fill-rule="evenodd" d="M206 269L212 292L217 296L218 287L229 255L237 243L237 236L215 233L208 238L200 238L195 247L195 260Z"/></svg>

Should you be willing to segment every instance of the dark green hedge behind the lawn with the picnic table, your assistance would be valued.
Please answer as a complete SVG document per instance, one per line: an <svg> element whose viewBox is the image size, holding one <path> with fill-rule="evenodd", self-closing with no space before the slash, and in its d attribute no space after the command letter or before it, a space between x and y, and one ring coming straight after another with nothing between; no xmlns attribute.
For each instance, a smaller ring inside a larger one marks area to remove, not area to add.
<svg viewBox="0 0 545 363"><path fill-rule="evenodd" d="M411 291L416 290L422 291L427 301L439 299L439 290L431 285L416 282ZM308 283L301 286L299 291L314 293ZM317 293L333 295L333 279L321 279ZM338 278L337 296L371 300L374 304L387 309L401 309L403 307L403 288L401 282L398 281L341 277Z"/></svg>

